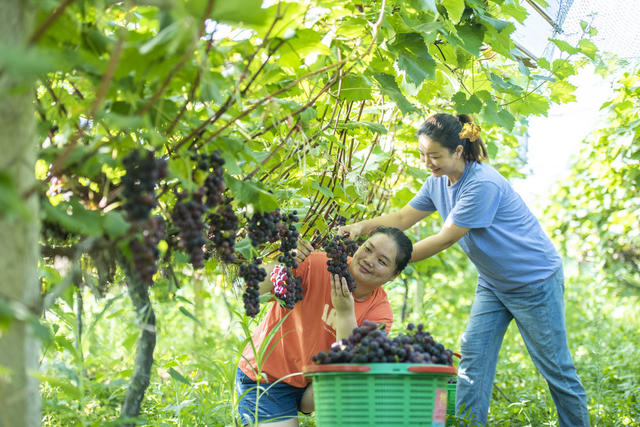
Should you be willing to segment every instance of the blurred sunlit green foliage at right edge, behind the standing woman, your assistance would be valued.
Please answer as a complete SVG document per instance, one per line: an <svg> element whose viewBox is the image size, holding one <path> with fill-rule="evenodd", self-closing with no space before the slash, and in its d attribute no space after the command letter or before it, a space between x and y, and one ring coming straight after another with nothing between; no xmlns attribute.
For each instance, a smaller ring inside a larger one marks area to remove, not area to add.
<svg viewBox="0 0 640 427"><path fill-rule="evenodd" d="M640 72L626 73L605 103L606 127L590 135L546 214L571 258L620 292L640 290Z"/></svg>

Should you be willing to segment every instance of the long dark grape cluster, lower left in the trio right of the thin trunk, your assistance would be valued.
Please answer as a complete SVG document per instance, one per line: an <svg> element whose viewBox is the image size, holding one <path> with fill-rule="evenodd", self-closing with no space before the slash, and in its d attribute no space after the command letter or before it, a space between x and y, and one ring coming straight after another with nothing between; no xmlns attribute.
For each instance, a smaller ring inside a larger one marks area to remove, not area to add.
<svg viewBox="0 0 640 427"><path fill-rule="evenodd" d="M206 208L202 198L202 191L193 194L189 200L186 194L181 193L171 212L173 224L179 230L180 246L189 254L189 262L193 268L204 267L205 225L202 216Z"/></svg>

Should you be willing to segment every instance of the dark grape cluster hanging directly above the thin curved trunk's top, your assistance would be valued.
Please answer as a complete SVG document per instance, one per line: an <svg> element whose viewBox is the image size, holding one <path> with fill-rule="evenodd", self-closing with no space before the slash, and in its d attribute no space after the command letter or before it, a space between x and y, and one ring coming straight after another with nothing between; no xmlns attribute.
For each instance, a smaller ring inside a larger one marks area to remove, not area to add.
<svg viewBox="0 0 640 427"><path fill-rule="evenodd" d="M152 216L146 221L138 223L142 237L134 237L129 241L133 265L142 283L151 286L153 275L158 271L158 243L164 240L165 224L161 216Z"/></svg>

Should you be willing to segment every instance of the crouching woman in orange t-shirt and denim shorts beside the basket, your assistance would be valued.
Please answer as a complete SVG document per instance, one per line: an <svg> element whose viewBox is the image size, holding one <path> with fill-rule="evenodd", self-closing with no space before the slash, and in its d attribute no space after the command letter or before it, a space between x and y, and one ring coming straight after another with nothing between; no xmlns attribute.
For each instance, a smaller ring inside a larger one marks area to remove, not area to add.
<svg viewBox="0 0 640 427"><path fill-rule="evenodd" d="M299 410L313 411L311 380L301 372L311 356L347 338L364 320L391 328L393 312L382 285L409 262L411 240L394 227L375 229L349 260L349 273L357 284L353 293L344 278L329 273L327 255L312 249L308 243L298 246L300 263L294 275L302 278L303 300L291 310L273 304L238 364L236 390L243 423L297 426ZM267 277L273 268L267 266ZM260 286L261 293L272 290L269 279ZM263 345L264 356L256 358Z"/></svg>

